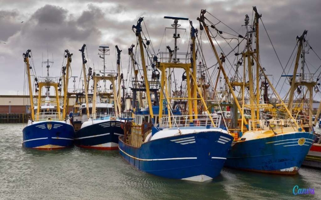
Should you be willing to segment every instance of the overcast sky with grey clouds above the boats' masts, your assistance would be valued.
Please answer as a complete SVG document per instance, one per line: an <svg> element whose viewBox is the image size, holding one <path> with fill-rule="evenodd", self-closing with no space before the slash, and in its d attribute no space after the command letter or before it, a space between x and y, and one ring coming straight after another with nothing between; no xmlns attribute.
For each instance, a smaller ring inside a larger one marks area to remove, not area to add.
<svg viewBox="0 0 321 200"><path fill-rule="evenodd" d="M186 17L193 20L195 28L199 28L196 18L201 9L207 9L225 24L245 35L244 29L241 28L241 25L244 24L244 16L248 14L251 18L252 6L256 6L258 12L262 13L262 20L283 67L296 44L296 36L301 35L305 29L308 30L309 43L314 51L321 55L321 40L319 38L321 2L319 0L52 0L47 3L36 0L0 0L0 5L0 67L2 74L0 94L17 94L17 91L19 94L23 94L24 63L22 53L28 49L32 51L37 75L41 75L42 54L46 59L48 47L49 60L53 55L55 62L51 69L51 75L59 75L64 50L68 49L74 53L72 75L80 76L82 64L81 53L78 50L82 44L87 44L87 59L91 66L94 64L95 68L101 65L97 55L98 47L109 45L108 69L116 69L114 47L118 45L123 50L122 67L124 70L127 69L129 62L127 49L136 42L131 27L141 16L144 17L155 51L157 51L164 34L164 28L172 23L172 20L163 19L163 16ZM21 23L22 21L23 23ZM180 23L183 28L189 27L188 22L182 21ZM166 33L166 36L169 41L172 35ZM206 42L206 38L203 39ZM208 46L207 43L203 45ZM165 50L164 42L162 42L161 48L163 51ZM260 53L262 66L277 81L282 74L282 68L262 26L260 26ZM216 62L212 58L212 52L205 52L204 55L209 66ZM316 68L321 65L320 60L311 51L307 60L310 63L311 72L315 72ZM69 84L69 88L71 87L72 82ZM279 86L279 90L280 88ZM285 86L283 90L285 91L286 88Z"/></svg>

